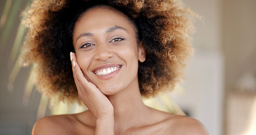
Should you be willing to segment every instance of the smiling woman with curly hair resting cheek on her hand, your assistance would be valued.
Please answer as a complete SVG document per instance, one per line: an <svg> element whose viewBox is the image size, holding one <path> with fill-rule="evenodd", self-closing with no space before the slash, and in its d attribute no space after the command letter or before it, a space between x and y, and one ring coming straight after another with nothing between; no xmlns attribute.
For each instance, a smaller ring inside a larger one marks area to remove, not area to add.
<svg viewBox="0 0 256 135"><path fill-rule="evenodd" d="M182 77L192 50L186 12L173 1L34 1L24 64L35 63L42 92L89 110L42 118L32 134L208 134L141 100Z"/></svg>

